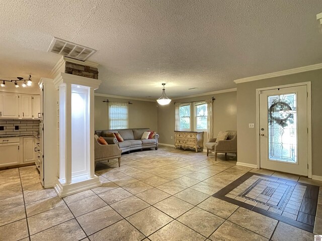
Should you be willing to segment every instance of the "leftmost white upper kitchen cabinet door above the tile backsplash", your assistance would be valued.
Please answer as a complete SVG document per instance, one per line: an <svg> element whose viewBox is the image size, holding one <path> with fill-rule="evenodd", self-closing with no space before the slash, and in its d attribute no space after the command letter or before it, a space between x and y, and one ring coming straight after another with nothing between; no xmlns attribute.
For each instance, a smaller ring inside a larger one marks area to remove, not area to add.
<svg viewBox="0 0 322 241"><path fill-rule="evenodd" d="M0 118L19 118L19 94L0 93Z"/></svg>

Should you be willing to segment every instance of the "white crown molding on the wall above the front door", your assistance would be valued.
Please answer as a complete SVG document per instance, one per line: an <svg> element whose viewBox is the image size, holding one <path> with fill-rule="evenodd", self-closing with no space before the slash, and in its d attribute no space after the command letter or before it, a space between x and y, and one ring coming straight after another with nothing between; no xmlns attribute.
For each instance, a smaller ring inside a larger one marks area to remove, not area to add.
<svg viewBox="0 0 322 241"><path fill-rule="evenodd" d="M284 75L297 74L297 73L316 70L316 69L322 69L322 63L303 66L303 67L294 68L294 69L282 70L282 71L268 73L268 74L261 74L261 75L256 75L256 76L242 78L242 79L236 79L233 82L235 82L236 84L240 84L240 83L251 82L251 81L256 81L260 79L269 79L269 78L274 78L274 77L279 77Z"/></svg>

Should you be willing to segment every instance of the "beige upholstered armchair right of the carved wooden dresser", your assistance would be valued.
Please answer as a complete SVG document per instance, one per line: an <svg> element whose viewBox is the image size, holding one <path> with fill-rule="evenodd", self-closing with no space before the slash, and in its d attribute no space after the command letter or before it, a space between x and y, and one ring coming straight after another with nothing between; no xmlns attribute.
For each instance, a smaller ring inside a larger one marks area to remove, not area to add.
<svg viewBox="0 0 322 241"><path fill-rule="evenodd" d="M227 139L224 141L216 141L217 138L211 138L207 143L207 156L209 151L215 153L215 161L217 161L217 153L224 153L225 158L227 153L236 153L237 155L237 132L226 131L228 133Z"/></svg>

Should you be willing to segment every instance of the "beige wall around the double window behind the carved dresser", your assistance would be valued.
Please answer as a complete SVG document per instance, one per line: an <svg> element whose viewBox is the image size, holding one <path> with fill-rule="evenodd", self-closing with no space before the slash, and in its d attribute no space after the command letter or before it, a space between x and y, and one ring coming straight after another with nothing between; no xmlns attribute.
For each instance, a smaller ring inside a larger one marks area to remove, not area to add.
<svg viewBox="0 0 322 241"><path fill-rule="evenodd" d="M213 126L214 126L214 137L217 137L219 131L225 130L237 130L236 120L236 91L226 92L213 95L205 95L193 98L176 99L171 101L169 105L158 105L157 116L158 116L158 134L159 143L174 145L175 140L171 139L174 136L175 130L175 105L174 102L192 102L199 100L211 99L214 96L213 102ZM204 149L205 143L208 141L207 133L204 133Z"/></svg>

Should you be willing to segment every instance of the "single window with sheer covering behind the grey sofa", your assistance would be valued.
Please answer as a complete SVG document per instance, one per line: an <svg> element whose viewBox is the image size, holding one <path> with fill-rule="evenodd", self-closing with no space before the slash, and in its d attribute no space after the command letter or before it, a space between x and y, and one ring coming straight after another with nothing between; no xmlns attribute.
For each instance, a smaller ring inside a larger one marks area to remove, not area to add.
<svg viewBox="0 0 322 241"><path fill-rule="evenodd" d="M109 129L127 129L128 112L128 103L109 102Z"/></svg>

